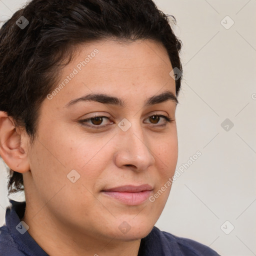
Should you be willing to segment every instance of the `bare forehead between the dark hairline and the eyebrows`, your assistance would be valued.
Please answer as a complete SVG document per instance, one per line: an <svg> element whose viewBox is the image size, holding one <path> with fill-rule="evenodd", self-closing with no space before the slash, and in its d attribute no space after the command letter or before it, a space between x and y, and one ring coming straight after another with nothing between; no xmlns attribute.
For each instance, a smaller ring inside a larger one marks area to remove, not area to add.
<svg viewBox="0 0 256 256"><path fill-rule="evenodd" d="M61 101L64 107L85 94L110 93L125 105L125 98L132 99L131 95L149 98L166 89L175 99L171 70L166 49L154 41L105 40L81 44L62 68L52 101Z"/></svg>

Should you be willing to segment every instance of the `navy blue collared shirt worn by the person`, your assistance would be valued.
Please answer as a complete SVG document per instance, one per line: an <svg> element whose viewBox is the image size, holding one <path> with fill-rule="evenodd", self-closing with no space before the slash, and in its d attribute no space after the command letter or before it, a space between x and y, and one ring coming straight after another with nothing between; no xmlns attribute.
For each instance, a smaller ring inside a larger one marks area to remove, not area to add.
<svg viewBox="0 0 256 256"><path fill-rule="evenodd" d="M25 212L25 201L9 200L5 225L0 227L1 256L49 256L19 222ZM21 234L23 233L23 234ZM154 226L141 239L138 256L219 256L217 252L194 240L178 237Z"/></svg>

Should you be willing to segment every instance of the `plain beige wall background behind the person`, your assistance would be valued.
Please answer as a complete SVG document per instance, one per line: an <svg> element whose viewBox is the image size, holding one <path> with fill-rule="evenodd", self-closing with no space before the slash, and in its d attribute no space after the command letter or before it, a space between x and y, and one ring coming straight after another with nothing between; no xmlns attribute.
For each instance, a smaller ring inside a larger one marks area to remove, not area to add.
<svg viewBox="0 0 256 256"><path fill-rule="evenodd" d="M0 17L11 16L23 2L0 0ZM175 16L174 31L183 42L177 168L201 152L174 181L156 226L220 255L256 255L256 1L155 3ZM6 183L1 163L0 224L8 205Z"/></svg>

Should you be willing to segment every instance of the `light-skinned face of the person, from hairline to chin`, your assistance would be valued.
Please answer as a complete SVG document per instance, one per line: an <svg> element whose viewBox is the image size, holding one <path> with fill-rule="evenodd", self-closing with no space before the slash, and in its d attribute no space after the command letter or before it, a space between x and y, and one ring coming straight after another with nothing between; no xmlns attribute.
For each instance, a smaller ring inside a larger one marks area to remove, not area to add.
<svg viewBox="0 0 256 256"><path fill-rule="evenodd" d="M97 41L76 53L42 102L26 199L36 202L34 220L47 216L97 238L141 238L163 210L177 162L170 60L149 40ZM85 100L99 93L100 102Z"/></svg>

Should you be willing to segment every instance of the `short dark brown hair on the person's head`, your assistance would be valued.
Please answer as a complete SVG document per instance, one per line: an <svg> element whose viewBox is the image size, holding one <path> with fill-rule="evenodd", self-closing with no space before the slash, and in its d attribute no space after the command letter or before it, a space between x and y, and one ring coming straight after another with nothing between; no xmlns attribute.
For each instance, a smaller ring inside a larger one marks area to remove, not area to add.
<svg viewBox="0 0 256 256"><path fill-rule="evenodd" d="M24 23L25 19L28 24ZM40 104L55 87L57 73L75 45L95 40L151 39L163 44L182 74L181 41L172 15L152 0L32 0L0 29L0 110L25 128L33 142ZM22 21L20 21L22 19ZM19 22L19 23L17 23ZM22 23L25 27L18 26ZM176 95L182 76L175 80ZM23 190L22 174L9 168L9 193Z"/></svg>

